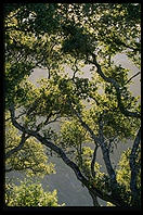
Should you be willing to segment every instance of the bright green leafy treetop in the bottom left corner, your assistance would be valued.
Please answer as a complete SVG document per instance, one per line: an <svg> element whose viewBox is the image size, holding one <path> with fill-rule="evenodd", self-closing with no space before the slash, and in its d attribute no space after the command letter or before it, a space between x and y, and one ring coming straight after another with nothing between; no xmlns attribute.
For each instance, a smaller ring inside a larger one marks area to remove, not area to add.
<svg viewBox="0 0 143 215"><path fill-rule="evenodd" d="M56 190L44 192L41 184L30 180L20 186L6 184L5 203L8 206L64 206L57 203Z"/></svg>

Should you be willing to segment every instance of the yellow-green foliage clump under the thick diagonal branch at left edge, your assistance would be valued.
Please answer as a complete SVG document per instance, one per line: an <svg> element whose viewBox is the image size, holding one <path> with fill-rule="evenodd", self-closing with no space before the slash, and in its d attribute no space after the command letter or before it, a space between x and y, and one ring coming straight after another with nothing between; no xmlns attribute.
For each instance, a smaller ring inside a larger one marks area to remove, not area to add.
<svg viewBox="0 0 143 215"><path fill-rule="evenodd" d="M8 115L9 118L9 115ZM5 123L5 153L20 144L21 136L11 122ZM24 147L5 161L5 169L25 172L28 176L43 177L53 174L54 165L48 163L46 149L35 138L28 138Z"/></svg>

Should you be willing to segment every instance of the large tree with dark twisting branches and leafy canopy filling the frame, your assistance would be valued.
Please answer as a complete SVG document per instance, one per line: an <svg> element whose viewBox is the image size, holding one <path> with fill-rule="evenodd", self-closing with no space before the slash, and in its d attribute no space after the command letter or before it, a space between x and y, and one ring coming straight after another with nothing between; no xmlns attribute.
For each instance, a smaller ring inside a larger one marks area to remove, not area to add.
<svg viewBox="0 0 143 215"><path fill-rule="evenodd" d="M140 73L128 78L130 71L113 62L126 53L140 67L140 4L5 3L4 9L5 109L23 146L34 137L60 155L94 205L99 197L116 206L140 206L141 114L129 90ZM79 76L87 64L91 79ZM36 67L48 72L38 88L27 80ZM122 170L123 155L118 169L110 153L126 139L132 146ZM99 149L107 173L100 170Z"/></svg>

